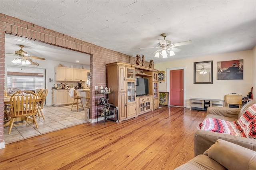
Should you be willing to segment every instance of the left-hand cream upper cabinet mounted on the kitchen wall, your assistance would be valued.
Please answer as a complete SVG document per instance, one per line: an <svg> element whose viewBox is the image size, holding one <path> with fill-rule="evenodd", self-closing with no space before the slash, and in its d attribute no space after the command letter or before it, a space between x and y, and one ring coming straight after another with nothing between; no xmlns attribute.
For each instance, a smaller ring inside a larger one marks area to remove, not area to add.
<svg viewBox="0 0 256 170"><path fill-rule="evenodd" d="M56 67L56 81L73 81L73 68Z"/></svg>

